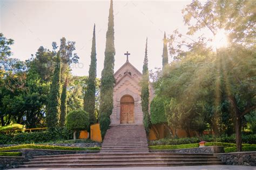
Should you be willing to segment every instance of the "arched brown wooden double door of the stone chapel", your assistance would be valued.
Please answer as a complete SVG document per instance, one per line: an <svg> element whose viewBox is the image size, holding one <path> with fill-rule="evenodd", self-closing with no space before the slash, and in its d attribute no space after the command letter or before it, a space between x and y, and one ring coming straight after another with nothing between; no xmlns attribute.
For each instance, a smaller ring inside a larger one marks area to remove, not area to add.
<svg viewBox="0 0 256 170"><path fill-rule="evenodd" d="M134 99L130 95L124 95L120 102L120 123L134 123Z"/></svg>

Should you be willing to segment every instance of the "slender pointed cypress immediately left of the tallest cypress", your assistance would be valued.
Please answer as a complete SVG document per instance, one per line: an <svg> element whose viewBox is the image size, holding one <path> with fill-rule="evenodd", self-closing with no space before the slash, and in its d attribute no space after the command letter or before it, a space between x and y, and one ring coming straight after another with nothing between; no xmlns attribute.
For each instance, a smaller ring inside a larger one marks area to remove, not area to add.
<svg viewBox="0 0 256 170"><path fill-rule="evenodd" d="M91 49L91 64L89 69L89 77L87 80L87 90L84 96L84 111L89 113L90 124L96 123L95 115L95 92L96 92L96 37L95 25L93 28L92 49Z"/></svg>

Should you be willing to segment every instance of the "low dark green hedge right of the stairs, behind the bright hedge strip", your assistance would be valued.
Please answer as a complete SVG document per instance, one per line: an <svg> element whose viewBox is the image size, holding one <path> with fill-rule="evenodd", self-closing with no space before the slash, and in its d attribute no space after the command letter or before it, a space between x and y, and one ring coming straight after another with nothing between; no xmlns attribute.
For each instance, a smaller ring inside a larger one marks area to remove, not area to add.
<svg viewBox="0 0 256 170"><path fill-rule="evenodd" d="M199 143L198 138L164 138L159 140L150 141L150 145L182 145L182 144L194 144Z"/></svg>

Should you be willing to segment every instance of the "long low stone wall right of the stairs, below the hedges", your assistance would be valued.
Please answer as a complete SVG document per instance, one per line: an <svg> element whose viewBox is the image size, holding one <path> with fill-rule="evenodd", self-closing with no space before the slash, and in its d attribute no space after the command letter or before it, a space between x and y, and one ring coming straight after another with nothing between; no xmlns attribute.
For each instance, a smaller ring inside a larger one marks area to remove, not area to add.
<svg viewBox="0 0 256 170"><path fill-rule="evenodd" d="M168 153L224 153L222 146L206 146L186 149L151 149L150 152L168 152Z"/></svg>

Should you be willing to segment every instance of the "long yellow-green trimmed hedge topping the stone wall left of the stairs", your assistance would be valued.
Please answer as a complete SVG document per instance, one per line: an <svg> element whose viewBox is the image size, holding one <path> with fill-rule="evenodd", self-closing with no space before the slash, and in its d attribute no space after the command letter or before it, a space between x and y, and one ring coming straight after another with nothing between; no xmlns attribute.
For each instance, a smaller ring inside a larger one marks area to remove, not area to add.
<svg viewBox="0 0 256 170"><path fill-rule="evenodd" d="M100 147L66 147L66 146L51 146L51 145L18 145L2 147L0 151L10 151L15 149L52 149L64 151L100 151Z"/></svg>

